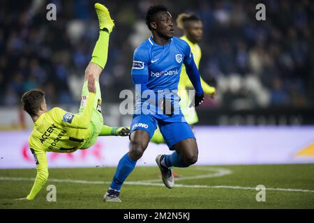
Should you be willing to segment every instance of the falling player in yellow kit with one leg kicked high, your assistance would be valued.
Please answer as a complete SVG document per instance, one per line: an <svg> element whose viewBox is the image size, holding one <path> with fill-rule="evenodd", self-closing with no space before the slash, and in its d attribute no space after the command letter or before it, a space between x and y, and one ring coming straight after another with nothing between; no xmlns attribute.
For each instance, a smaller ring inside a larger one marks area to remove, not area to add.
<svg viewBox="0 0 314 223"><path fill-rule="evenodd" d="M107 8L95 4L99 22L99 38L94 47L91 62L85 70L82 101L78 114L66 112L59 107L47 111L45 93L34 89L22 96L23 109L33 119L33 132L29 147L35 157L37 176L26 198L33 200L48 178L46 152L72 153L92 146L98 136L129 134L128 128L112 128L103 125L99 76L107 62L110 33L114 22Z"/></svg>

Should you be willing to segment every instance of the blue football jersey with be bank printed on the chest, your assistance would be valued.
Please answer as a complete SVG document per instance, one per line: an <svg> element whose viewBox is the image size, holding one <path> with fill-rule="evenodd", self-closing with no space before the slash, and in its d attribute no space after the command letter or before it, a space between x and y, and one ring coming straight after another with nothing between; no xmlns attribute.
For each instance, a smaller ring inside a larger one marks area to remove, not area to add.
<svg viewBox="0 0 314 223"><path fill-rule="evenodd" d="M178 105L175 109L178 109L181 114L177 89L182 63L190 63L190 60L193 60L193 55L186 41L173 37L167 45L157 45L150 37L135 49L131 75L148 76L147 88L156 94L158 91L163 91L163 97L171 98L172 102L177 97ZM160 115L162 112L158 107L158 100L159 98L156 98L156 107L151 106L151 110L157 108L159 115L156 114L156 116L158 118L170 118L164 114ZM144 101L143 98L137 97L137 102L143 103ZM176 105L176 103L174 104ZM137 109L138 107L135 106L135 113L137 113Z"/></svg>

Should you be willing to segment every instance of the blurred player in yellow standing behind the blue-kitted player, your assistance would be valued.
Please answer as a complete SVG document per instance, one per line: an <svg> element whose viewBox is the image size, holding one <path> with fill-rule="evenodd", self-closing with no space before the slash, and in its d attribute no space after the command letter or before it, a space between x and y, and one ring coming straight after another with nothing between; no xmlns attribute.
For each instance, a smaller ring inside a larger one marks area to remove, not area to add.
<svg viewBox="0 0 314 223"><path fill-rule="evenodd" d="M181 13L177 18L177 26L184 32L184 36L181 36L181 39L185 40L186 43L190 45L190 49L193 53L193 58L198 69L200 66L200 59L202 57L202 50L200 49L200 45L198 45L200 40L202 40L202 21L196 15ZM209 86L209 84L204 82L202 77L200 77L200 79L204 93L210 95L211 98L214 99L216 95L216 88ZM186 118L187 123L193 125L198 122L198 117L195 111L195 107L190 107L191 102L188 97L188 89L193 89L193 85L190 82L188 75L186 74L185 66L182 66L178 86L178 95L181 99L179 105L182 113L184 114L184 118ZM156 129L151 141L156 144L165 143L165 140L163 139L163 135L161 134L159 128Z"/></svg>

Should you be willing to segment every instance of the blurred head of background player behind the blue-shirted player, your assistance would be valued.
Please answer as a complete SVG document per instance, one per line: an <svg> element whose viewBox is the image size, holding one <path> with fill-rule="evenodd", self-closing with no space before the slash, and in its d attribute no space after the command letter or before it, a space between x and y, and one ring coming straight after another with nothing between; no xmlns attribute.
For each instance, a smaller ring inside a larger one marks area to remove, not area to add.
<svg viewBox="0 0 314 223"><path fill-rule="evenodd" d="M193 43L202 40L203 24L197 15L181 13L177 18L177 26L184 31L184 36Z"/></svg>

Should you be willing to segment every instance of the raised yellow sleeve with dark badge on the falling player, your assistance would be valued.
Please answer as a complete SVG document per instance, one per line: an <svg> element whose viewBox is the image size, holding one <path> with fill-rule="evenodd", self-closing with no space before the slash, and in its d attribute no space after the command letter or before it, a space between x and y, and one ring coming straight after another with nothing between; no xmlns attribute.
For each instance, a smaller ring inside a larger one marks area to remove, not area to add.
<svg viewBox="0 0 314 223"><path fill-rule="evenodd" d="M93 112L95 95L95 93L89 93L87 105L81 114L73 114L70 112L66 112L59 107L55 107L51 110L54 120L61 125L71 128L89 128L91 114Z"/></svg>

